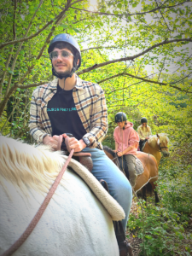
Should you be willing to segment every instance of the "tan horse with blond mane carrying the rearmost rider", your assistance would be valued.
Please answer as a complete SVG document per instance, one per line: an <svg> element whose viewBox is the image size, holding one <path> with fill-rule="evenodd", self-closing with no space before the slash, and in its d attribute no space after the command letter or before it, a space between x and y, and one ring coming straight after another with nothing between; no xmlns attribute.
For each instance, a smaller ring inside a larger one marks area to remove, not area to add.
<svg viewBox="0 0 192 256"><path fill-rule="evenodd" d="M169 148L167 147L169 139L165 133L156 134L148 139L145 143L143 152L153 154L157 160L158 166L160 165L161 153L163 156L170 155Z"/></svg>

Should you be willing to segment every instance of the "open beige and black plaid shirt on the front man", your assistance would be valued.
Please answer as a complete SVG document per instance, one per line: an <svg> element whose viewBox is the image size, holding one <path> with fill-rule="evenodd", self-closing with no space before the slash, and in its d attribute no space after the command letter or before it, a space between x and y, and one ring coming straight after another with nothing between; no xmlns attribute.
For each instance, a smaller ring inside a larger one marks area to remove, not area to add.
<svg viewBox="0 0 192 256"><path fill-rule="evenodd" d="M104 92L98 84L83 81L77 75L76 79L73 100L87 132L84 137L90 140L89 148L102 149L101 142L108 131L108 113ZM38 86L32 93L29 127L32 137L38 143L42 143L45 136L52 136L47 104L55 95L57 84L58 79L54 79L49 84Z"/></svg>

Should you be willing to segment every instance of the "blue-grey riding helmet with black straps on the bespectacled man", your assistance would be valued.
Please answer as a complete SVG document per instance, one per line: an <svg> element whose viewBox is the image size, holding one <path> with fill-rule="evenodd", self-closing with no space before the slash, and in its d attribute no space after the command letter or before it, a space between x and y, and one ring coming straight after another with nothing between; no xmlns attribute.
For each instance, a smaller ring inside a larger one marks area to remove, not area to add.
<svg viewBox="0 0 192 256"><path fill-rule="evenodd" d="M54 49L56 43L67 43L73 48L73 51L74 51L73 68L72 68L71 73L66 74L66 75L61 75L61 74L58 74L55 72L55 69L52 65L52 73L58 79L64 79L64 78L67 79L68 77L71 78L73 76L73 73L75 73L75 71L78 70L79 67L81 66L81 52L80 52L79 44L75 40L75 38L73 38L71 35L62 33L62 34L55 36L55 38L53 38L51 40L51 42L49 44L49 48L48 48L48 53L50 53ZM78 60L79 60L79 65L77 65ZM51 63L52 63L52 61L51 61Z"/></svg>

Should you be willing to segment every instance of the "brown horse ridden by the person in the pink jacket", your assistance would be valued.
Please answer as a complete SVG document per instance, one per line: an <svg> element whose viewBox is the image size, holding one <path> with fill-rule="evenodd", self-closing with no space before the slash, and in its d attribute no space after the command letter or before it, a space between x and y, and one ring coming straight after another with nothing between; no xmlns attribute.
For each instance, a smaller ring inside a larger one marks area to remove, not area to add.
<svg viewBox="0 0 192 256"><path fill-rule="evenodd" d="M118 166L118 158L117 155L113 152L111 148L107 146L103 147L105 154L108 155L108 158L113 160L114 164ZM141 160L144 168L144 172L137 176L137 183L134 187L134 191L137 193L140 189L142 189L143 199L146 201L146 189L151 192L154 191L155 195L155 203L159 202L159 197L156 191L157 184L154 183L158 179L158 165L157 161L151 154L146 154L141 151L137 152L137 158ZM127 177L127 175L126 175ZM128 178L128 177L127 177Z"/></svg>

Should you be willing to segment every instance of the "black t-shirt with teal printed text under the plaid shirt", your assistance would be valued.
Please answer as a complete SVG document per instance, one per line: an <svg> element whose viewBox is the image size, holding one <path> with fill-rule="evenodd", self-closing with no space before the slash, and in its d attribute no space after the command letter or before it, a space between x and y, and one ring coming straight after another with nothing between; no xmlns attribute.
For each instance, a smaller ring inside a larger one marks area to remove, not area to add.
<svg viewBox="0 0 192 256"><path fill-rule="evenodd" d="M73 90L62 90L57 85L55 96L48 102L47 112L52 126L52 136L72 133L73 137L79 140L87 133L75 108Z"/></svg>

